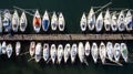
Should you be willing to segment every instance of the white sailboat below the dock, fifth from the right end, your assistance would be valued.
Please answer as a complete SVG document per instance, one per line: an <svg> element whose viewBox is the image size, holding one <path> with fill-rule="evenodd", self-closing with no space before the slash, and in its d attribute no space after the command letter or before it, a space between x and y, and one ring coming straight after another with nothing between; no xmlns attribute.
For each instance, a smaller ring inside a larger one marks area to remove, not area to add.
<svg viewBox="0 0 133 74"><path fill-rule="evenodd" d="M94 63L98 62L99 51L98 51L98 44L95 42L92 43L91 54Z"/></svg>

